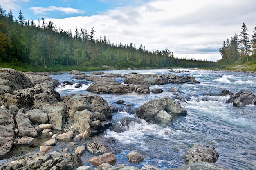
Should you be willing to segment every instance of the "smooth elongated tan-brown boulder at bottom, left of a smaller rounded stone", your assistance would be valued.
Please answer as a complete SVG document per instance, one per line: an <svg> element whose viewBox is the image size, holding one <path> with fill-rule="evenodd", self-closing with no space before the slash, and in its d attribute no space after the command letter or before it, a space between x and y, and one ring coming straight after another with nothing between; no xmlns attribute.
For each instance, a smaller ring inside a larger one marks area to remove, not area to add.
<svg viewBox="0 0 256 170"><path fill-rule="evenodd" d="M102 163L114 164L116 162L116 157L112 153L104 153L103 155L91 157L88 162L96 167Z"/></svg>

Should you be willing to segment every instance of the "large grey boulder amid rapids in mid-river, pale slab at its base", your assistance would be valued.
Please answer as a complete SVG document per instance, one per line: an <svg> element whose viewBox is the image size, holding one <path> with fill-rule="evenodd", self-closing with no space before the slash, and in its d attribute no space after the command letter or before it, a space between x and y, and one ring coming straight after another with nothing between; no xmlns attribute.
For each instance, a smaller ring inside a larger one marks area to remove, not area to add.
<svg viewBox="0 0 256 170"><path fill-rule="evenodd" d="M150 100L136 111L139 118L154 123L171 122L174 115L186 115L186 113L187 111L170 97Z"/></svg>

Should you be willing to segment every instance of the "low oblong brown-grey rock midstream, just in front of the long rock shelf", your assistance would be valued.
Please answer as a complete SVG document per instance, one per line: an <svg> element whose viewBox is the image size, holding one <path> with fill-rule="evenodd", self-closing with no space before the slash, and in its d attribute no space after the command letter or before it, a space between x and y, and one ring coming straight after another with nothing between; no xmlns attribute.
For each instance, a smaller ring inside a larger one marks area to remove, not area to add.
<svg viewBox="0 0 256 170"><path fill-rule="evenodd" d="M134 85L124 85L116 82L98 82L90 85L87 91L92 93L131 93L135 89Z"/></svg>

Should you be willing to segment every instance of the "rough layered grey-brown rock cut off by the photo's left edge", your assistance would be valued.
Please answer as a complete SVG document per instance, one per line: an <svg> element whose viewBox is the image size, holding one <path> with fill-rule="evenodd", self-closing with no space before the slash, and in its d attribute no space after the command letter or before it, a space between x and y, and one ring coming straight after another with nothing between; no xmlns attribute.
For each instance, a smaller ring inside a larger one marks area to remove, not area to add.
<svg viewBox="0 0 256 170"><path fill-rule="evenodd" d="M13 111L0 108L0 157L10 152L15 139Z"/></svg>

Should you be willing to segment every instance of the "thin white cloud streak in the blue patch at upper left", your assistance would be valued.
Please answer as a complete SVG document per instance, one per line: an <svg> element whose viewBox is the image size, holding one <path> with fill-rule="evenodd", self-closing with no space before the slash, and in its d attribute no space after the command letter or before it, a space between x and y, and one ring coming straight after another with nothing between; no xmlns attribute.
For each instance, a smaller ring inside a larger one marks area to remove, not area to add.
<svg viewBox="0 0 256 170"><path fill-rule="evenodd" d="M44 8L44 7L31 7L30 9L33 11L33 13L35 15L38 15L38 14L45 15L49 11L61 11L61 12L64 12L65 14L73 14L73 13L83 14L84 13L84 11L82 11L82 10L74 9L74 8L70 8L70 7L49 6L47 8Z"/></svg>

